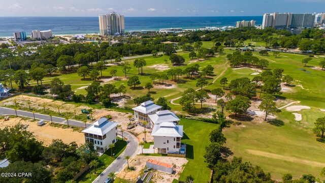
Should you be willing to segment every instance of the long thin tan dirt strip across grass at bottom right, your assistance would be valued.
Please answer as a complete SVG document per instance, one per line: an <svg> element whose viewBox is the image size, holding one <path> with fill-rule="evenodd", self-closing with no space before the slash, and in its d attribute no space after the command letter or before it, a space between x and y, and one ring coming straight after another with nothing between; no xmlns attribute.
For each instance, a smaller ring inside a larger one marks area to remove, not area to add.
<svg viewBox="0 0 325 183"><path fill-rule="evenodd" d="M273 154L273 153L267 153L267 152L261 151L261 150L246 149L246 152L251 155L262 156L262 157L272 158L272 159L277 159L277 160L283 160L283 161L287 161L287 162L300 163L300 164L309 165L309 166L316 166L316 167L324 167L325 166L325 163L310 161L310 160L305 160L305 159L300 159L300 158L295 158L295 157L283 156L283 155L278 155L278 154Z"/></svg>

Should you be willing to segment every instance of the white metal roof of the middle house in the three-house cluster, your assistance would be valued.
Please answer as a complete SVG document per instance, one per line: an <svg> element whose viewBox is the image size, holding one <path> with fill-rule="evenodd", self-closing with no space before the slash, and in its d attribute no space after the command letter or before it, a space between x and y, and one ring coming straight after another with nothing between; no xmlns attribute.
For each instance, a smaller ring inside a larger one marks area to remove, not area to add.
<svg viewBox="0 0 325 183"><path fill-rule="evenodd" d="M178 125L180 119L170 110L157 111L154 114L149 114L150 127L153 128L156 124L161 124L163 122L175 123Z"/></svg>

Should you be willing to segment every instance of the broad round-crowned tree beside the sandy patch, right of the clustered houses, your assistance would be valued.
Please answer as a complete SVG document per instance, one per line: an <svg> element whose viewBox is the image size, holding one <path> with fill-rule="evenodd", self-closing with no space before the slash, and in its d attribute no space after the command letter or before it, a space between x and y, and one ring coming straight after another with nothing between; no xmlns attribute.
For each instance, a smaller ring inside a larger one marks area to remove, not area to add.
<svg viewBox="0 0 325 183"><path fill-rule="evenodd" d="M235 116L237 114L243 114L249 108L251 102L247 97L237 96L235 99L230 100L226 103L226 110L235 112Z"/></svg>

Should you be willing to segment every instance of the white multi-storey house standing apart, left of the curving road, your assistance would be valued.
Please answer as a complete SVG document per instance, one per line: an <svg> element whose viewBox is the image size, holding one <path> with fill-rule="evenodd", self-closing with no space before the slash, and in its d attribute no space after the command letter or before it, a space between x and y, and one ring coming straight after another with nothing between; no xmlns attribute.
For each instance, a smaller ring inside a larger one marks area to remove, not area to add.
<svg viewBox="0 0 325 183"><path fill-rule="evenodd" d="M85 142L93 143L94 148L105 153L109 144L117 142L117 123L108 121L102 117L82 132L85 135Z"/></svg>

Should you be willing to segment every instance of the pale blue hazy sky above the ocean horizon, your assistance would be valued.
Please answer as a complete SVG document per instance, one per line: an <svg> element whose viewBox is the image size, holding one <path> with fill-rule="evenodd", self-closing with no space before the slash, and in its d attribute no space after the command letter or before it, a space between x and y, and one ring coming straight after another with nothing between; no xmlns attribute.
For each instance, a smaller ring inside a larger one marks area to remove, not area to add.
<svg viewBox="0 0 325 183"><path fill-rule="evenodd" d="M324 7L325 0L1 0L0 16L262 16L320 13Z"/></svg>

